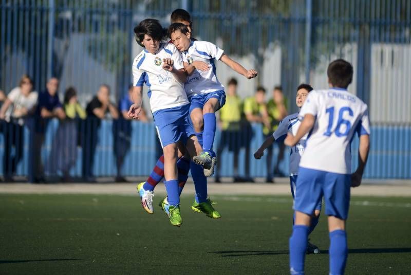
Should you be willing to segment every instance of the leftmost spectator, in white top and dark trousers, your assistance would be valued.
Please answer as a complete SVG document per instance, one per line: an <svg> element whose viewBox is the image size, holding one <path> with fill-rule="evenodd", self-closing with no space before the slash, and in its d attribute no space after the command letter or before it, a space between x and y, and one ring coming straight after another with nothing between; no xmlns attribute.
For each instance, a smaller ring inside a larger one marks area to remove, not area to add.
<svg viewBox="0 0 411 275"><path fill-rule="evenodd" d="M13 181L17 164L23 157L24 119L34 113L38 99L38 93L32 91L32 88L33 82L30 77L23 75L18 87L10 91L0 109L0 119L5 120L2 125L4 134L3 176L5 181Z"/></svg>

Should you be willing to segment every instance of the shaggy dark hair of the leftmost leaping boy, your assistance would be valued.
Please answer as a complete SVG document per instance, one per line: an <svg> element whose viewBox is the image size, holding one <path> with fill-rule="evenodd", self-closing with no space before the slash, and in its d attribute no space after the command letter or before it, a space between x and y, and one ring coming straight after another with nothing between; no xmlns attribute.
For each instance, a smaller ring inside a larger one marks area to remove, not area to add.
<svg viewBox="0 0 411 275"><path fill-rule="evenodd" d="M143 39L147 34L155 41L162 41L167 36L167 31L163 29L160 22L157 19L144 19L136 27L134 27L134 38L137 43L144 47Z"/></svg>

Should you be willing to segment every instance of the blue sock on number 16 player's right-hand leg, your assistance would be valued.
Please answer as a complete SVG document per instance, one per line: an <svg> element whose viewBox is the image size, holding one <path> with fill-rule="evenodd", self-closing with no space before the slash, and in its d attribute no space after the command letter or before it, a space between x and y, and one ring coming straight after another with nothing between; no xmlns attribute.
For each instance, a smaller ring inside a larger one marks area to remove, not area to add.
<svg viewBox="0 0 411 275"><path fill-rule="evenodd" d="M330 232L330 274L344 274L347 263L348 245L345 230L334 230Z"/></svg>

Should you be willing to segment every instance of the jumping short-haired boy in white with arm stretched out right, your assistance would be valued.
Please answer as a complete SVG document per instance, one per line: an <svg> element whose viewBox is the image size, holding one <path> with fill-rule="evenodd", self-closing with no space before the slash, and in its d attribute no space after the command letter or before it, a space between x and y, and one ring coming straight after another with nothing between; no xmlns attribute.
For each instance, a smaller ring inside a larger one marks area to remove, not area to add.
<svg viewBox="0 0 411 275"><path fill-rule="evenodd" d="M245 69L210 42L192 41L191 32L184 24L172 24L169 34L173 44L182 52L183 64L189 75L184 88L191 103L190 117L200 143L202 137L203 152L193 161L204 167L204 175L211 176L217 161L213 151L217 123L215 112L226 101L224 86L217 79L214 62L221 60L247 79L256 77L257 71Z"/></svg>

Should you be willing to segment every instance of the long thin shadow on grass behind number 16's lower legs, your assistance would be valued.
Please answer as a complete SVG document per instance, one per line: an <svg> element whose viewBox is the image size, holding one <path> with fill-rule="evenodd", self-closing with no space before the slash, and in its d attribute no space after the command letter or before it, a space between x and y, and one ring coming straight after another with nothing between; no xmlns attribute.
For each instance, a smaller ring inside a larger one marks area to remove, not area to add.
<svg viewBox="0 0 411 275"><path fill-rule="evenodd" d="M372 253L409 253L411 248L353 248L348 249L349 254L372 254ZM220 257L238 256L258 256L258 255L278 255L289 254L288 250L232 250L232 251L211 251L209 253L219 254ZM321 254L328 254L328 250L321 250Z"/></svg>

